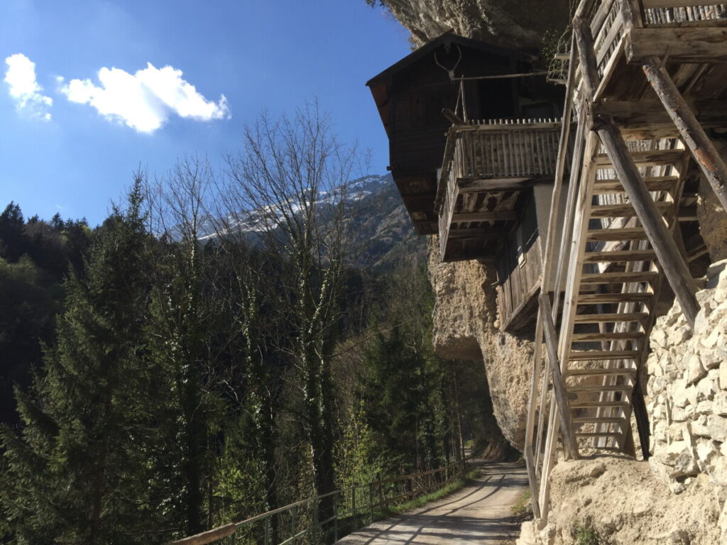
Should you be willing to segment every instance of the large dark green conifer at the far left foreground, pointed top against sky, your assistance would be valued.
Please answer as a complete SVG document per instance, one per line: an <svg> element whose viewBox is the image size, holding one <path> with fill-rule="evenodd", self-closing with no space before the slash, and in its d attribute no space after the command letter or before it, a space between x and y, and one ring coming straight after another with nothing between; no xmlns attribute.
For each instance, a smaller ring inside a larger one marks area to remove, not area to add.
<svg viewBox="0 0 727 545"><path fill-rule="evenodd" d="M114 207L90 251L85 279L65 282L58 344L33 395L17 392L25 426L2 431L0 506L18 544L149 543L156 509L148 483L155 440L142 358L148 245L141 177Z"/></svg>

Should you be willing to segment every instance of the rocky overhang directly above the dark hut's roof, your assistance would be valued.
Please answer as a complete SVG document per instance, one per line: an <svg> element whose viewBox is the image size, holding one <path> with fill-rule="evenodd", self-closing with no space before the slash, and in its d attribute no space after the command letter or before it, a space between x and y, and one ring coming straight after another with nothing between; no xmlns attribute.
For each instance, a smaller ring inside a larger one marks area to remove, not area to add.
<svg viewBox="0 0 727 545"><path fill-rule="evenodd" d="M459 36L538 52L542 35L568 23L567 0L385 0L417 46L450 28Z"/></svg>

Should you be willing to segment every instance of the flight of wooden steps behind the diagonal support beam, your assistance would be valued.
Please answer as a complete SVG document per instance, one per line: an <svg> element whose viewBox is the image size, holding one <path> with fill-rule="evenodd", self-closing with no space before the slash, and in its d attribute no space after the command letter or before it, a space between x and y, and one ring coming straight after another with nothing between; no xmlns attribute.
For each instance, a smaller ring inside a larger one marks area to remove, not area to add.
<svg viewBox="0 0 727 545"><path fill-rule="evenodd" d="M678 140L629 142L670 230L688 153ZM598 145L596 146L598 147ZM602 150L599 150L601 152ZM633 453L632 397L663 283L656 254L616 177L597 153L584 173L569 257L559 358L578 449ZM576 453L577 454L577 453Z"/></svg>

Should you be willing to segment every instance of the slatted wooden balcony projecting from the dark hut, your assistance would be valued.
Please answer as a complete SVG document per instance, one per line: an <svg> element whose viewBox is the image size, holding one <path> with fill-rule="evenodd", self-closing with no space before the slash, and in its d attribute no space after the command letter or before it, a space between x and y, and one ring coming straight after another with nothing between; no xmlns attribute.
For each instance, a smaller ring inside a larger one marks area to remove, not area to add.
<svg viewBox="0 0 727 545"><path fill-rule="evenodd" d="M560 129L555 119L451 127L435 202L444 262L494 257L518 222L523 190L552 179Z"/></svg>

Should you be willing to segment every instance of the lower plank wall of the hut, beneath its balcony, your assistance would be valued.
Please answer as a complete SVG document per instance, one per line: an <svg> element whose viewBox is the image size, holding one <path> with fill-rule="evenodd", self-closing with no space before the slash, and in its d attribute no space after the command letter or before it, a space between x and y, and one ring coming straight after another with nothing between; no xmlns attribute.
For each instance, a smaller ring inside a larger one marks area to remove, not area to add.
<svg viewBox="0 0 727 545"><path fill-rule="evenodd" d="M521 207L520 221L508 235L502 254L498 255L497 306L503 331L516 331L534 316L542 273L542 251L535 201L532 195Z"/></svg>

